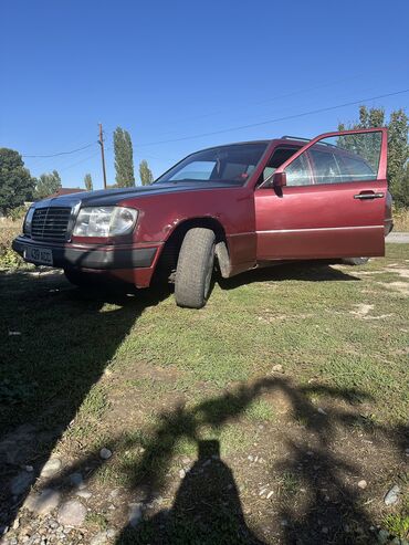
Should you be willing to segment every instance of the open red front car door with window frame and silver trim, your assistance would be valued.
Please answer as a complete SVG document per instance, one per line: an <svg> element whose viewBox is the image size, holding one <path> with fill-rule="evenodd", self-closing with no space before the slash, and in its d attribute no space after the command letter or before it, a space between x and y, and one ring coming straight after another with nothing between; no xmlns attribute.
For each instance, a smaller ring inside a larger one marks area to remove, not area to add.
<svg viewBox="0 0 409 545"><path fill-rule="evenodd" d="M255 191L259 260L385 254L385 222L391 221L390 209L386 206L387 129L378 130L382 137L376 180L283 187L280 197L271 188ZM319 135L283 163L275 172L283 172L291 163L324 138L357 133L374 133L374 129ZM355 198L363 192L382 193L384 198Z"/></svg>

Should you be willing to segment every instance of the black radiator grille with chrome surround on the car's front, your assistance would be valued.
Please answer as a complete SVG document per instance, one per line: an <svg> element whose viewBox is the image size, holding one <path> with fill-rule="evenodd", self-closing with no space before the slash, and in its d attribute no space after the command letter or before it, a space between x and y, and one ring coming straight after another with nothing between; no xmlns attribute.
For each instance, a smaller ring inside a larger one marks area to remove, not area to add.
<svg viewBox="0 0 409 545"><path fill-rule="evenodd" d="M38 208L31 223L31 237L35 240L66 240L70 216L71 208Z"/></svg>

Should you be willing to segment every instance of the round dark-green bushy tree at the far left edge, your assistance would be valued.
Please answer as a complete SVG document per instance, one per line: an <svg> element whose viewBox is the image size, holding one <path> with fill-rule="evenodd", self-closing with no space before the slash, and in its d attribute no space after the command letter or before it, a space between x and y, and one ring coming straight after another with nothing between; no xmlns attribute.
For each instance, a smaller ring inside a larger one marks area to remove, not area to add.
<svg viewBox="0 0 409 545"><path fill-rule="evenodd" d="M0 148L0 210L3 213L31 200L35 181L18 151Z"/></svg>

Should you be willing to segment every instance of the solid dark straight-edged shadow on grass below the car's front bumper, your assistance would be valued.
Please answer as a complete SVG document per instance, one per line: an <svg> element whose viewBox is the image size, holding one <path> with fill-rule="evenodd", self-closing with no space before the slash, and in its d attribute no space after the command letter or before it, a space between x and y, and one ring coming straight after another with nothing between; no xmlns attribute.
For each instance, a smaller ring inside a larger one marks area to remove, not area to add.
<svg viewBox="0 0 409 545"><path fill-rule="evenodd" d="M0 526L12 524L135 322L166 296L84 293L55 272L0 274ZM104 392L92 402L97 413Z"/></svg>

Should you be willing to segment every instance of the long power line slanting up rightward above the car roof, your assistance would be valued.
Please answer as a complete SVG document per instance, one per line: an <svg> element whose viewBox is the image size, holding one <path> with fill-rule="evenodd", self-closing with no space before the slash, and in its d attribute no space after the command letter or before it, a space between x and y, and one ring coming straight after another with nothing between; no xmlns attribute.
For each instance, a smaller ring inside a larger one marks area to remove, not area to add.
<svg viewBox="0 0 409 545"><path fill-rule="evenodd" d="M195 138L202 138L202 137L206 137L206 136L213 136L213 135L220 135L220 134L223 134L223 133L231 133L232 130L241 130L241 129L244 129L244 128L260 127L262 125L269 125L271 123L277 123L277 122L283 122L283 120L287 120L287 119L295 119L297 117L305 117L307 115L321 114L323 112L331 112L333 109L345 108L346 106L355 106L356 104L361 104L364 102L377 101L378 98L386 98L388 96L401 95L403 93L409 93L409 88L406 88L406 90L402 90L402 91L396 91L394 93L387 93L385 95L371 96L369 98L360 98L359 101L346 102L344 104L337 104L336 106L327 106L325 108L311 109L308 112L302 112L300 114L286 115L286 116L283 116L283 117L275 117L274 119L268 119L268 120L264 120L264 122L251 123L249 125L239 125L239 126L235 126L235 127L223 128L223 129L220 129L220 130L212 130L211 133L201 133L199 135L182 136L180 138L170 138L170 139L167 139L167 140L149 142L149 143L146 143L146 144L139 144L138 147L157 146L159 144L169 144L171 142L190 140L190 139L195 139Z"/></svg>

